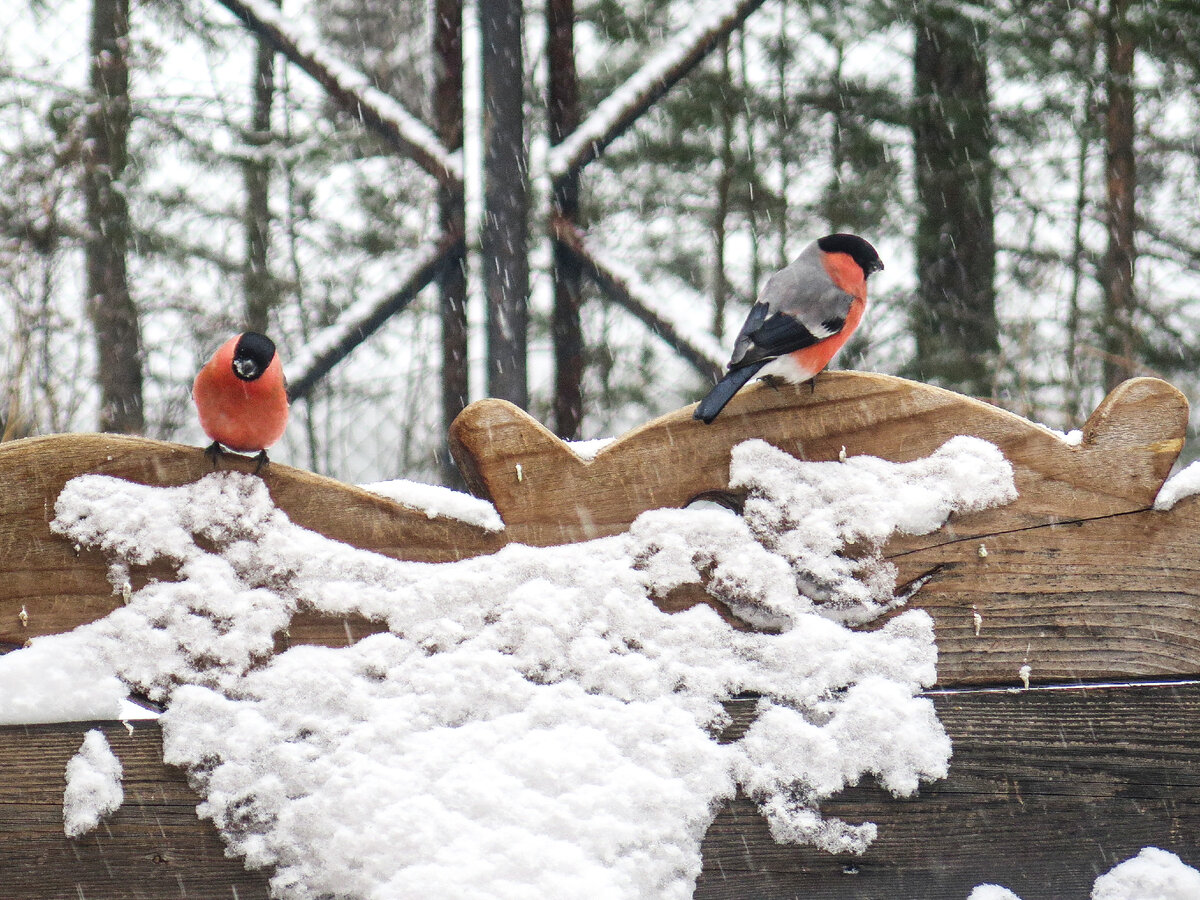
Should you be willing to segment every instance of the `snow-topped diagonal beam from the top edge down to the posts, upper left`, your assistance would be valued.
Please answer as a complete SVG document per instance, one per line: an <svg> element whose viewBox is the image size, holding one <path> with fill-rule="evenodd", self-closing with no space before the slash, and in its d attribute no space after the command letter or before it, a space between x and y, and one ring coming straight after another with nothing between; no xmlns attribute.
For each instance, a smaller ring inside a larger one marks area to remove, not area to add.
<svg viewBox="0 0 1200 900"><path fill-rule="evenodd" d="M265 38L289 62L316 80L342 109L413 160L439 182L457 188L462 162L437 136L366 76L334 59L304 37L288 32L278 8L264 0L217 0L251 31Z"/></svg>

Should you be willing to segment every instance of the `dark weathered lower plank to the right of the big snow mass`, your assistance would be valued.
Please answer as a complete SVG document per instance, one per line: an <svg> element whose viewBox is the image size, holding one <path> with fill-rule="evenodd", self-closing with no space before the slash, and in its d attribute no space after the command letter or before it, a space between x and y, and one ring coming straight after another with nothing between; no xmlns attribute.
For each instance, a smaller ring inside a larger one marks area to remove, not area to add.
<svg viewBox="0 0 1200 900"><path fill-rule="evenodd" d="M856 787L823 805L880 834L862 857L776 845L746 799L704 839L696 900L1087 900L1097 875L1157 846L1200 868L1200 685L934 697L950 775L911 800ZM751 710L743 704L742 716Z"/></svg>

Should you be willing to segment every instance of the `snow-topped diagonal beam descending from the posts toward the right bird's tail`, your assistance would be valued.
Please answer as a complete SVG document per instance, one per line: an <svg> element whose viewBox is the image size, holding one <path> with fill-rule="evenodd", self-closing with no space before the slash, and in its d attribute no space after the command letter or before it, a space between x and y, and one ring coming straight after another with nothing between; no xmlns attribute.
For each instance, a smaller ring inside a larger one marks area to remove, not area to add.
<svg viewBox="0 0 1200 900"><path fill-rule="evenodd" d="M634 272L618 263L601 259L583 242L580 230L562 216L551 218L551 234L570 251L583 266L583 271L612 302L632 313L655 335L671 346L676 353L690 362L702 376L716 380L725 373L724 350L712 335L689 329L671 313L655 308L652 290L638 283Z"/></svg>

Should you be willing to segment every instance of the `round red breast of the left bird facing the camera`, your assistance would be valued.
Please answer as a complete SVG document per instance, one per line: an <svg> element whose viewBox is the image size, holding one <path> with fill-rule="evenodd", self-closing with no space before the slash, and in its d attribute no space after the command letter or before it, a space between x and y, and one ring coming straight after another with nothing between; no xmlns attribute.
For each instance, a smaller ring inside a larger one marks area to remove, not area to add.
<svg viewBox="0 0 1200 900"><path fill-rule="evenodd" d="M229 450L246 454L265 450L283 436L288 394L278 353L252 380L234 373L240 340L241 335L230 337L204 364L192 383L192 398L204 433Z"/></svg>

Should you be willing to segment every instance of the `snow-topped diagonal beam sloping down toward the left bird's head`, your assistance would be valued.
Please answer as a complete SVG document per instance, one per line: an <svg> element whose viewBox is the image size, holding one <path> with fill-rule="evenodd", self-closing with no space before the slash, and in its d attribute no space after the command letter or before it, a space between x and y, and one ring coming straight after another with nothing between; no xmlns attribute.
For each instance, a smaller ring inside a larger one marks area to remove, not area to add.
<svg viewBox="0 0 1200 900"><path fill-rule="evenodd" d="M287 366L288 394L305 397L325 374L373 335L391 316L408 306L446 266L466 252L461 234L428 246L403 286L382 300L360 300L292 358Z"/></svg>

